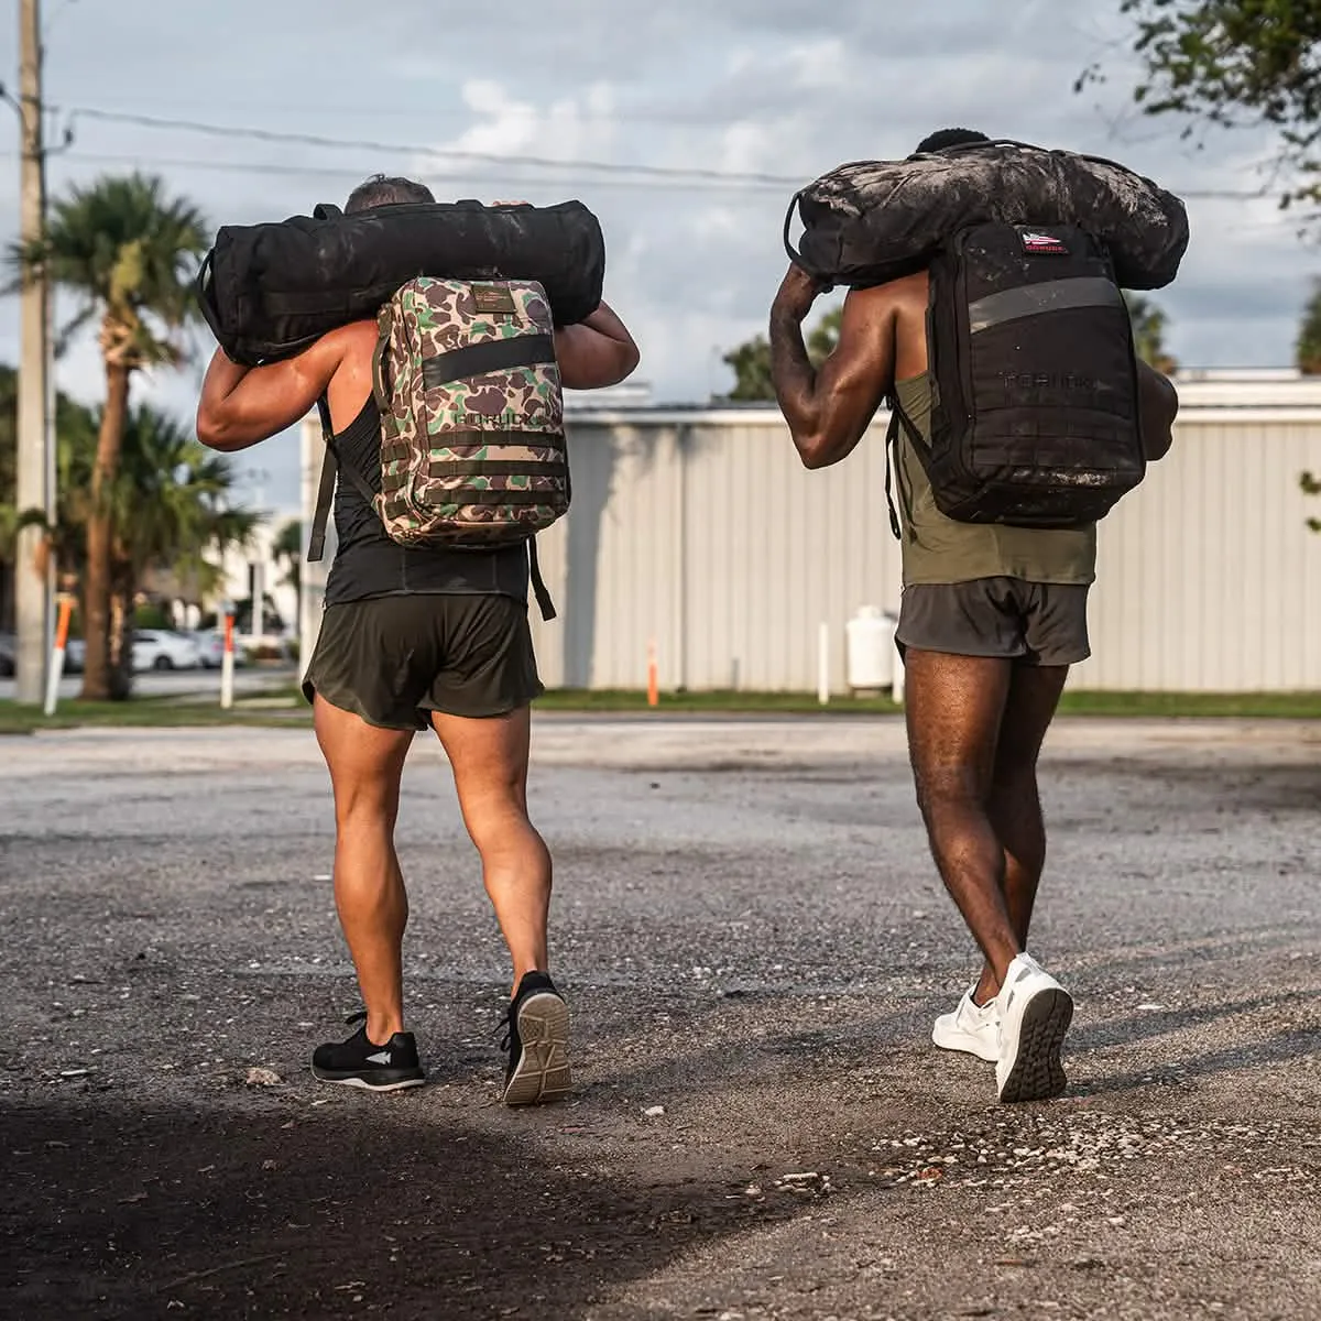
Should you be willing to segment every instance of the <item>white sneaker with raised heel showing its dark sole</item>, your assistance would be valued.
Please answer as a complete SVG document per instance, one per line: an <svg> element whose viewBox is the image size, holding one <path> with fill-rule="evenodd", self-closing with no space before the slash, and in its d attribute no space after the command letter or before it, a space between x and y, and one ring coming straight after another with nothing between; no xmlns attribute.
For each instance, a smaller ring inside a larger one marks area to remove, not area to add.
<svg viewBox="0 0 1321 1321"><path fill-rule="evenodd" d="M1048 1100L1067 1086L1059 1048L1073 1021L1073 997L1030 955L1020 954L996 996L1000 1057L995 1066L1000 1099Z"/></svg>

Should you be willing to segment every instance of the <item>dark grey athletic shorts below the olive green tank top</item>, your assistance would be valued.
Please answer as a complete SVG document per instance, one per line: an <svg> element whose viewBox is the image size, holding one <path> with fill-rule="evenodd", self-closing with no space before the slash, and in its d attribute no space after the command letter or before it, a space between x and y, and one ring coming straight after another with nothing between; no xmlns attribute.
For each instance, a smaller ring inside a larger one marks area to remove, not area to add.
<svg viewBox="0 0 1321 1321"><path fill-rule="evenodd" d="M1026 664L1077 664L1091 655L1089 588L1073 583L974 579L904 588L894 641L900 653L1003 657Z"/></svg>

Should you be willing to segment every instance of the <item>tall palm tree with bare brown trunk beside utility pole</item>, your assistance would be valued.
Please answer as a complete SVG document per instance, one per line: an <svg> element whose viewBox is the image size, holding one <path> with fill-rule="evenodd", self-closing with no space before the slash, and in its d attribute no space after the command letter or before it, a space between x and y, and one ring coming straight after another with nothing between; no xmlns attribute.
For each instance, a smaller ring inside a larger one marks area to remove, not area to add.
<svg viewBox="0 0 1321 1321"><path fill-rule="evenodd" d="M190 202L166 197L159 178L129 174L73 188L52 207L45 238L11 252L20 280L44 269L74 296L78 310L63 338L100 322L106 404L89 487L83 697L114 695L111 493L128 423L129 382L135 371L184 361L180 332L196 306L190 273L206 246L206 225Z"/></svg>

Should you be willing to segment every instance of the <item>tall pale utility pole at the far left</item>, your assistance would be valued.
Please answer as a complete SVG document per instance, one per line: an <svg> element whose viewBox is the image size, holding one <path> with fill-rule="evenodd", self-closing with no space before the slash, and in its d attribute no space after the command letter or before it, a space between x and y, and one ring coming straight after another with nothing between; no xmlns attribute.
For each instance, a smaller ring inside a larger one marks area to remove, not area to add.
<svg viewBox="0 0 1321 1321"><path fill-rule="evenodd" d="M22 116L21 152L21 229L24 244L45 234L46 156L42 143L41 98L41 4L20 0L20 112ZM48 412L48 343L49 292L45 271L24 280L21 291L21 349L18 362L18 513L41 510L50 514L48 490L49 436ZM17 605L17 660L20 703L38 705L45 696L45 668L50 663L50 573L40 563L42 542L40 527L25 527L18 535L15 563Z"/></svg>

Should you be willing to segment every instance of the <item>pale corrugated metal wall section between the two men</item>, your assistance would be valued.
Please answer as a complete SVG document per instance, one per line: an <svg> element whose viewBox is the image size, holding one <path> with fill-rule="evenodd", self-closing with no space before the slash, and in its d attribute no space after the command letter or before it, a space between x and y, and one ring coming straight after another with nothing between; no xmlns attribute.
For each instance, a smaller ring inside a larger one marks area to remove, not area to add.
<svg viewBox="0 0 1321 1321"><path fill-rule="evenodd" d="M534 624L547 683L639 687L654 639L667 688L815 688L827 622L844 687L845 621L898 606L882 435L819 473L765 423L580 421L571 444L573 509L542 539L564 614Z"/></svg>

